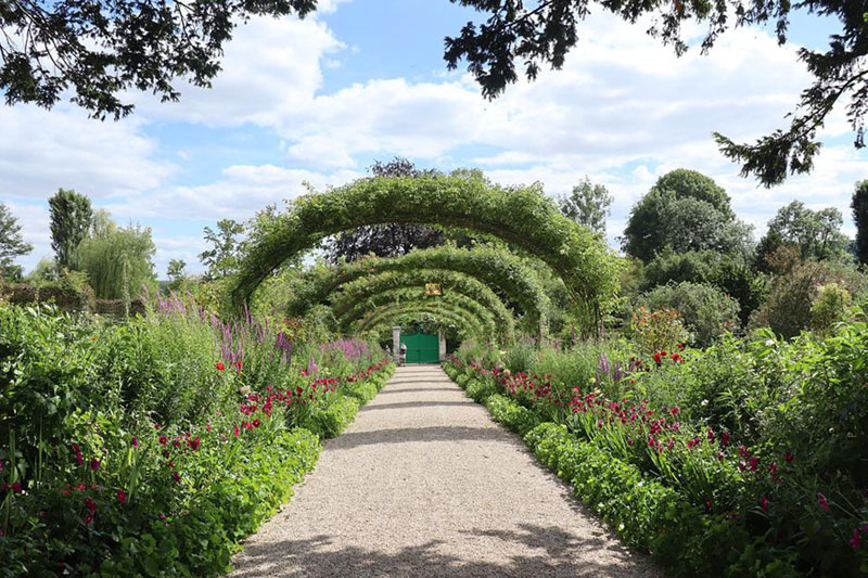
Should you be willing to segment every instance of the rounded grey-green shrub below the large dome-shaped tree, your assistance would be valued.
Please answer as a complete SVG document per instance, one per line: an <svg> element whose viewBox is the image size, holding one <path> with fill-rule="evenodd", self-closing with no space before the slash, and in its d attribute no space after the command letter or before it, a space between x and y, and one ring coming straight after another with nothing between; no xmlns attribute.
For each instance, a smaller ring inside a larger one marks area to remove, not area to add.
<svg viewBox="0 0 868 578"><path fill-rule="evenodd" d="M739 304L712 285L689 281L669 283L643 294L640 301L653 310L678 311L690 342L699 346L710 345L739 325Z"/></svg>

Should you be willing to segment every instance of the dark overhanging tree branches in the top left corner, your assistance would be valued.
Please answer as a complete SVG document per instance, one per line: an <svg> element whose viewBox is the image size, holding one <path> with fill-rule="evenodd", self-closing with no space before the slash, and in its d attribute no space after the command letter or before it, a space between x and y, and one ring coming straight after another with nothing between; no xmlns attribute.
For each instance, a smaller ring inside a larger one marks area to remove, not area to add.
<svg viewBox="0 0 868 578"><path fill-rule="evenodd" d="M304 16L316 0L0 0L0 91L50 108L65 92L99 118L132 112L141 90L177 101L174 84L209 87L224 44L254 15Z"/></svg>

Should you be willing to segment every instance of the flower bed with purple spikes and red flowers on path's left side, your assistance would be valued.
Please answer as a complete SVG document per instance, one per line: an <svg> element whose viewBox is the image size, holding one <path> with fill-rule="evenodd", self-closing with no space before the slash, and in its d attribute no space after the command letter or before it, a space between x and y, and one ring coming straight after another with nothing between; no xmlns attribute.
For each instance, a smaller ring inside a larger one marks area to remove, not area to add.
<svg viewBox="0 0 868 578"><path fill-rule="evenodd" d="M200 313L105 325L0 304L0 576L225 571L316 464L316 434L394 371L362 342L293 362L279 330Z"/></svg>

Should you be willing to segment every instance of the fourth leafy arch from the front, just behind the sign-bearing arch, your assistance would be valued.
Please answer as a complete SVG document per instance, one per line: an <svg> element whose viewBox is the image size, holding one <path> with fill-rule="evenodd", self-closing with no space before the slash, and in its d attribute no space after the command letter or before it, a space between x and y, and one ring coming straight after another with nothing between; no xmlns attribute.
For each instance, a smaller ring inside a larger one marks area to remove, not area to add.
<svg viewBox="0 0 868 578"><path fill-rule="evenodd" d="M512 324L505 325L501 320L495 317L485 305L478 303L473 297L463 295L459 292L448 292L442 296L424 295L418 288L397 288L390 290L384 293L374 295L366 300L359 301L355 307L344 312L342 316L335 316L339 319L339 326L342 331L347 331L349 326L357 320L363 318L366 313L376 310L380 307L392 305L411 303L419 305L436 305L444 303L455 305L472 312L481 323L484 324L486 334L495 338L499 343L508 343L513 339L514 333Z"/></svg>

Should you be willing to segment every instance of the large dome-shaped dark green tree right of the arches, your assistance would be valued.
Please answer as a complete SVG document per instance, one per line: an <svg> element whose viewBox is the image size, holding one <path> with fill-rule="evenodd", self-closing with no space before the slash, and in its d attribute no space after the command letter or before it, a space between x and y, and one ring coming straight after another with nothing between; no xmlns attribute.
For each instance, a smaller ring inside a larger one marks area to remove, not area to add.
<svg viewBox="0 0 868 578"><path fill-rule="evenodd" d="M711 178L677 169L658 179L633 207L622 246L644 262L666 247L676 253L716 251L746 259L751 228L736 219L726 191Z"/></svg>

